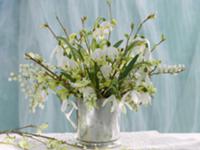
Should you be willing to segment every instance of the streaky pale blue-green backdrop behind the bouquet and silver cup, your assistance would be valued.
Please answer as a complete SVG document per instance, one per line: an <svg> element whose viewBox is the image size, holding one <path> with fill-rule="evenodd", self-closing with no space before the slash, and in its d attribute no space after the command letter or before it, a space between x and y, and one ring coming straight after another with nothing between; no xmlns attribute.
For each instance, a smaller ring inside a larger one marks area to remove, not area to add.
<svg viewBox="0 0 200 150"><path fill-rule="evenodd" d="M167 37L154 57L166 64L183 63L187 67L178 76L154 78L158 92L153 104L122 115L122 130L200 131L200 1L113 0L112 9L118 19L113 40L129 31L131 21L137 25L156 12L157 19L142 30L152 43L159 41L161 33ZM49 58L56 43L40 25L48 22L57 34L62 34L56 15L70 32L75 32L81 27L81 16L89 16L91 25L98 15L107 16L107 7L104 0L0 0L0 130L48 122L49 132L72 131L54 96L48 98L44 110L31 114L18 84L7 81L9 73L25 62L25 51L40 52Z"/></svg>

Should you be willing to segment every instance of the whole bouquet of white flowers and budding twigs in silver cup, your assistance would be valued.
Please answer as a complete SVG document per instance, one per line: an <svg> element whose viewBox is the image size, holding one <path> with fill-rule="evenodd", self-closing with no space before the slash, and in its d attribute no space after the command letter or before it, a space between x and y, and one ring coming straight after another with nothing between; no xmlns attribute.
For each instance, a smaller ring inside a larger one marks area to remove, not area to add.
<svg viewBox="0 0 200 150"><path fill-rule="evenodd" d="M108 2L109 8L110 3ZM82 29L69 34L58 17L57 21L65 36L57 36L48 24L48 29L58 42L52 57L57 64L47 63L44 58L33 52L25 54L32 64L21 64L19 74L11 74L9 80L19 80L22 90L30 99L32 111L37 106L43 107L45 98L53 91L66 107L77 109L70 100L82 100L88 108L98 107L96 101L103 99L103 105L120 104L123 111L126 106L137 110L141 105L151 103L156 92L151 77L169 73L177 74L184 70L183 65L161 65L161 60L153 59L151 54L165 41L154 46L140 35L145 22L154 19L155 14L147 16L135 29L130 25L130 33L112 43L110 38L117 21L112 18L98 17L91 28L85 27L87 17L82 17Z"/></svg>

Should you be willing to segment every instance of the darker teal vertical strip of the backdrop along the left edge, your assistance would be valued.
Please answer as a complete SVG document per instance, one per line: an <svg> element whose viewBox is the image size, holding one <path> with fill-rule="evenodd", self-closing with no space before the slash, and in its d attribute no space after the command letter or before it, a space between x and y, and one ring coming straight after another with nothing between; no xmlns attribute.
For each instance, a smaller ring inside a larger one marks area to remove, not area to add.
<svg viewBox="0 0 200 150"><path fill-rule="evenodd" d="M8 76L18 67L18 0L0 0L0 129L18 126L18 85Z"/></svg>

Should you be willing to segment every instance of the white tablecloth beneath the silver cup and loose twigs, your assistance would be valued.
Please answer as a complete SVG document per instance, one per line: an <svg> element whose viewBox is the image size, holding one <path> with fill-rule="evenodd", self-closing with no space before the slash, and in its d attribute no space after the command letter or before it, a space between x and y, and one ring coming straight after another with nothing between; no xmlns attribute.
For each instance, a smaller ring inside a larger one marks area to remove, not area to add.
<svg viewBox="0 0 200 150"><path fill-rule="evenodd" d="M73 133L46 134L62 140L68 140L74 136ZM0 141L3 136L0 136ZM121 148L115 150L200 150L200 133L159 133L157 131L124 132L121 133ZM0 144L0 150L18 150L10 145ZM39 143L35 144L33 150L44 150ZM80 150L69 147L69 150Z"/></svg>

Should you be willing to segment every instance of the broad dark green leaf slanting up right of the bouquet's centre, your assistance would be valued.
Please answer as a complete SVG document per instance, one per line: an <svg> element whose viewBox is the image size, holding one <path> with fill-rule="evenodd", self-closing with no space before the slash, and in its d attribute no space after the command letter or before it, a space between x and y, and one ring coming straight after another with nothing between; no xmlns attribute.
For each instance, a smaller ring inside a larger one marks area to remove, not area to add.
<svg viewBox="0 0 200 150"><path fill-rule="evenodd" d="M119 75L119 80L122 80L124 78L126 78L126 76L128 76L128 74L130 73L130 71L133 69L134 64L136 63L137 59L139 57L139 54L136 55L127 66L124 66L122 69L122 72Z"/></svg>

